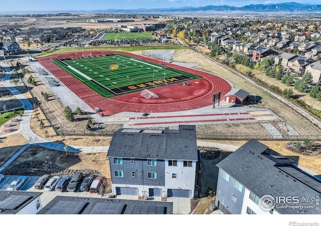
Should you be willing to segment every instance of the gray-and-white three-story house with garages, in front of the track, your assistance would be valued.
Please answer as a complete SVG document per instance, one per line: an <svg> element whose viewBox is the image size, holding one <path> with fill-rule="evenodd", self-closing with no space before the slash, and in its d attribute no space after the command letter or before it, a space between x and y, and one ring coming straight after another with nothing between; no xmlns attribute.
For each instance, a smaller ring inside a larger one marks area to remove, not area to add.
<svg viewBox="0 0 321 226"><path fill-rule="evenodd" d="M116 195L194 197L196 127L120 129L107 157Z"/></svg>

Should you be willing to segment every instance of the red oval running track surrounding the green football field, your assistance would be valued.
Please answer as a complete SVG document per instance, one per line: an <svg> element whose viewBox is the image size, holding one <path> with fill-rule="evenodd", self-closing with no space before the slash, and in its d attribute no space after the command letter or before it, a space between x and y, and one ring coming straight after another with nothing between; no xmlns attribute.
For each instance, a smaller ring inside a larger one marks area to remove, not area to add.
<svg viewBox="0 0 321 226"><path fill-rule="evenodd" d="M101 110L99 114L103 114L104 116L114 115L122 111L171 112L196 109L213 104L212 97L214 93L221 91L222 100L224 99L224 95L231 90L231 86L226 80L204 71L186 68L128 52L92 51L92 55L110 53L121 53L152 63L162 64L166 67L171 67L199 75L202 78L187 81L187 83L192 83L192 85L184 86L179 84L171 84L149 89L150 91L158 94L160 98L157 99L146 99L140 96L141 90L129 94L119 95L113 98L105 98L88 88L86 85L82 84L76 78L72 77L70 74L52 62L53 59L81 57L82 51L54 54L47 57L39 57L37 60L93 110L95 107L99 107Z"/></svg>

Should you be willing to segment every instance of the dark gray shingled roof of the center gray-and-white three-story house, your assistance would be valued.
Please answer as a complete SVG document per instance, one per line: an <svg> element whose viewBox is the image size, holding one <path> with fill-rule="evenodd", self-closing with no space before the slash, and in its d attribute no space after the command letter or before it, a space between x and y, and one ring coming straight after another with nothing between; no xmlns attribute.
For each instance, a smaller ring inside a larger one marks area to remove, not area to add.
<svg viewBox="0 0 321 226"><path fill-rule="evenodd" d="M107 157L197 161L196 127L119 129L113 134Z"/></svg>

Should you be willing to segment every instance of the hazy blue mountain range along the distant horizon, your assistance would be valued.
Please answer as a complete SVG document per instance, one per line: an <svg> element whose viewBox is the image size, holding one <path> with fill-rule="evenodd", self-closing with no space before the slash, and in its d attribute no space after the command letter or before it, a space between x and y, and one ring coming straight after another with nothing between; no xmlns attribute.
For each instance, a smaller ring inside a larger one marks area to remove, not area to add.
<svg viewBox="0 0 321 226"><path fill-rule="evenodd" d="M306 13L306 12L321 12L321 5L303 5L299 3L279 3L279 4L268 4L268 5L248 5L244 7L233 7L233 6L205 6L205 7L183 7L183 8L168 8L168 9L134 9L134 10L121 10L121 9L108 9L108 10L91 10L91 11L8 11L0 12L1 15L12 15L12 14L59 14L59 13L70 13L70 14L197 14L204 13L209 14L211 12L255 12L255 13Z"/></svg>

